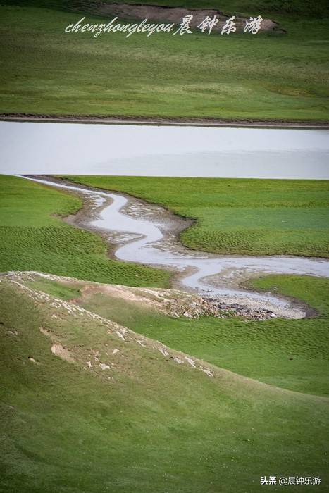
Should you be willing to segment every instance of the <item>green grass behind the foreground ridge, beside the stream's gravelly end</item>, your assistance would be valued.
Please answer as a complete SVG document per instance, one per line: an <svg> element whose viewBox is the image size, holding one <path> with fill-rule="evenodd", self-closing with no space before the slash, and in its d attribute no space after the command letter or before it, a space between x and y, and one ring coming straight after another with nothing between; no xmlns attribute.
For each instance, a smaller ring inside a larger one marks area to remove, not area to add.
<svg viewBox="0 0 329 493"><path fill-rule="evenodd" d="M212 317L170 318L134 303L102 294L77 301L136 332L158 339L221 368L271 385L329 396L329 281L307 276L272 275L252 282L302 299L318 316L261 322Z"/></svg>

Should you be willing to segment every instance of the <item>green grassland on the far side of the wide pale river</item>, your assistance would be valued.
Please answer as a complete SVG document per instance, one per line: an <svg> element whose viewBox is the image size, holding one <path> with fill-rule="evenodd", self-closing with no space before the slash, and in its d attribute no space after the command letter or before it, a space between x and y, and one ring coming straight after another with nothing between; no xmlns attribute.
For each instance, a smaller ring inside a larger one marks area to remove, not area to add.
<svg viewBox="0 0 329 493"><path fill-rule="evenodd" d="M325 2L209 0L203 5L271 14L287 34L149 39L67 35L82 15L61 10L69 4L1 1L1 113L328 121Z"/></svg>

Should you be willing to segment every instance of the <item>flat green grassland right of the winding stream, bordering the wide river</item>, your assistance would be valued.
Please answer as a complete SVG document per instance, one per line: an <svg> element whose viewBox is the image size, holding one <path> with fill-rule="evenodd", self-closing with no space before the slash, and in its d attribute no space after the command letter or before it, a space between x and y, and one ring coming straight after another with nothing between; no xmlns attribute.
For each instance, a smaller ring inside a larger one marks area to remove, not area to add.
<svg viewBox="0 0 329 493"><path fill-rule="evenodd" d="M222 178L66 176L156 202L197 222L192 249L218 254L329 256L329 182Z"/></svg>

